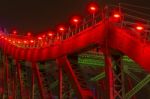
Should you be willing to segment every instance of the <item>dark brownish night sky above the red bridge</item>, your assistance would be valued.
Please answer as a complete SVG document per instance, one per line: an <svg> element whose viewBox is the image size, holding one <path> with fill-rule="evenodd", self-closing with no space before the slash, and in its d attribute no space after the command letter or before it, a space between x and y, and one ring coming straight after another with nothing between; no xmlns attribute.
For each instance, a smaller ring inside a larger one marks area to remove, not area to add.
<svg viewBox="0 0 150 99"><path fill-rule="evenodd" d="M87 2L92 0L1 0L0 24L8 30L17 28L21 33L39 33L54 28L75 14L85 14ZM95 0L101 5L116 0ZM131 4L150 6L150 0L119 0Z"/></svg>

